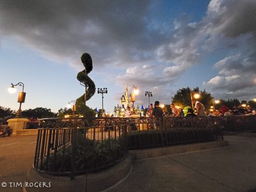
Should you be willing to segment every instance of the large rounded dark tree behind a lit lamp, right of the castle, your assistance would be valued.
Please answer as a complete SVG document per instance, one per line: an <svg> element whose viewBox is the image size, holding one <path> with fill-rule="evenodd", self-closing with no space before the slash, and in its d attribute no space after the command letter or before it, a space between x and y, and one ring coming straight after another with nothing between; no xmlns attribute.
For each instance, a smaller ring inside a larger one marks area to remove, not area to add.
<svg viewBox="0 0 256 192"><path fill-rule="evenodd" d="M214 98L212 97L211 93L208 93L205 90L201 91L199 87L193 88L193 90L191 90L191 88L189 87L177 90L175 95L172 97L172 102L176 106L180 107L191 106L191 92L200 93L200 98L198 99L198 101L202 102L205 108L210 108L212 102L214 101Z"/></svg>

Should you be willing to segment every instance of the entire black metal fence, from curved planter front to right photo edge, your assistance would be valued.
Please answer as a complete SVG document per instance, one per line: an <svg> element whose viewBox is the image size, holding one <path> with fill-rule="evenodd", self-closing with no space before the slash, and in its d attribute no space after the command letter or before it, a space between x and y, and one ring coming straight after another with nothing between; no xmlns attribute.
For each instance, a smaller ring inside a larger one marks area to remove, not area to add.
<svg viewBox="0 0 256 192"><path fill-rule="evenodd" d="M118 163L127 150L223 140L255 127L256 116L42 119L34 167L74 178Z"/></svg>

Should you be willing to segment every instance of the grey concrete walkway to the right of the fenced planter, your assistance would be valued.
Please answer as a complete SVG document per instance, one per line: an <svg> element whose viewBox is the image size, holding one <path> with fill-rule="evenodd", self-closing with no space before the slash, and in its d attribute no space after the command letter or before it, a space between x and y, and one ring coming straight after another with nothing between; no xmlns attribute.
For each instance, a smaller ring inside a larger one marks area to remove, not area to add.
<svg viewBox="0 0 256 192"><path fill-rule="evenodd" d="M108 191L256 191L256 137L225 140L230 147L136 161Z"/></svg>

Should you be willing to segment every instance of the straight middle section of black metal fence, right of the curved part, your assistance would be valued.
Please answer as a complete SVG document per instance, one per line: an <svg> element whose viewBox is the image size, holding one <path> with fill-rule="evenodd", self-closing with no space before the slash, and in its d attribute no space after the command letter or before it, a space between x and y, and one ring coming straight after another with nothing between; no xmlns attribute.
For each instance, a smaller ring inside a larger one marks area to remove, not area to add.
<svg viewBox="0 0 256 192"><path fill-rule="evenodd" d="M129 149L223 140L220 118L131 118L127 124Z"/></svg>

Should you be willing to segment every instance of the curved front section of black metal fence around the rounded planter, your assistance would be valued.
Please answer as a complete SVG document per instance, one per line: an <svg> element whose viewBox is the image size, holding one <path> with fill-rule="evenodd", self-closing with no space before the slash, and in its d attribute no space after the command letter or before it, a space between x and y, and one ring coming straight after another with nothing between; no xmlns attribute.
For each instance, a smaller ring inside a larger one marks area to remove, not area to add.
<svg viewBox="0 0 256 192"><path fill-rule="evenodd" d="M118 118L40 120L34 167L53 175L95 172L127 153L125 121Z"/></svg>

